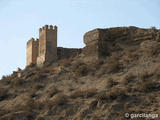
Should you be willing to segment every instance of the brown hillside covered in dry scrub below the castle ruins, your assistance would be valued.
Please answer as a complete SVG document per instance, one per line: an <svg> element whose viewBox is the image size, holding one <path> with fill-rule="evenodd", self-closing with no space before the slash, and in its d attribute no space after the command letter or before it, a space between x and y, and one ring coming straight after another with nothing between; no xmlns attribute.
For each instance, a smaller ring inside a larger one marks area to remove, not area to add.
<svg viewBox="0 0 160 120"><path fill-rule="evenodd" d="M114 32L109 34L114 38ZM82 52L4 76L0 120L125 120L132 117L125 118L125 113L160 115L159 39L143 33L140 38L134 44L127 37L127 47L117 37L116 43L123 47L113 45L103 59L89 61Z"/></svg>

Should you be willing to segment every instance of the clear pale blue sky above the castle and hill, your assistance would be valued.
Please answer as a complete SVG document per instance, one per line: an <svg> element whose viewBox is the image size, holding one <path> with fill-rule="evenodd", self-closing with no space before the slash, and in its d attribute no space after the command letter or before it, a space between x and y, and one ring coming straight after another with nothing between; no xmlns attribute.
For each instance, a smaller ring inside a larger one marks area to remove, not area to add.
<svg viewBox="0 0 160 120"><path fill-rule="evenodd" d="M160 28L160 0L0 0L0 77L26 64L26 42L45 24L58 26L58 46L84 47L95 28Z"/></svg>

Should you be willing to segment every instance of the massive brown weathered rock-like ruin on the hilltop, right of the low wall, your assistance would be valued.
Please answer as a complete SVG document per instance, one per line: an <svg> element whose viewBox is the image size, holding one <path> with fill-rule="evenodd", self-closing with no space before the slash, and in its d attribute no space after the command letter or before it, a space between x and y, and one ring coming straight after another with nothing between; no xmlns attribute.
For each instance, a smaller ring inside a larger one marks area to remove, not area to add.
<svg viewBox="0 0 160 120"><path fill-rule="evenodd" d="M95 29L84 35L83 53L95 58L103 58L111 52L135 48L146 40L160 40L160 32L155 28L116 27Z"/></svg>

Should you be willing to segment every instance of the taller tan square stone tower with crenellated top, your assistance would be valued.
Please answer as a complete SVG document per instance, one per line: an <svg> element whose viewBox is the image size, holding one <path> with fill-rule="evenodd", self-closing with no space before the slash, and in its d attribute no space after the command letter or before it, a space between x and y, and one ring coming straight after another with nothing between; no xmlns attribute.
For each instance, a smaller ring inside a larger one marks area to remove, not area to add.
<svg viewBox="0 0 160 120"><path fill-rule="evenodd" d="M37 65L52 62L57 59L57 26L48 26L39 29L39 50Z"/></svg>

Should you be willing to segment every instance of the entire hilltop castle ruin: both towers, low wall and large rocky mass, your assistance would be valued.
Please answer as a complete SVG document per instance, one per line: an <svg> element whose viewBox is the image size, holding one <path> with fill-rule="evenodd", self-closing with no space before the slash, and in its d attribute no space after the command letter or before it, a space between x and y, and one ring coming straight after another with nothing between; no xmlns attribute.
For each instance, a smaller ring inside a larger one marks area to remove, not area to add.
<svg viewBox="0 0 160 120"><path fill-rule="evenodd" d="M145 41L151 40L155 41L155 44L160 42L160 30L134 26L94 29L84 35L86 46L82 48L82 54L86 60L99 60L114 51L138 49L144 46ZM39 39L32 38L27 42L27 66L43 65L79 53L81 49L57 47L57 27L45 25L39 30Z"/></svg>

